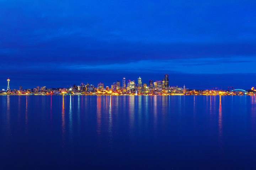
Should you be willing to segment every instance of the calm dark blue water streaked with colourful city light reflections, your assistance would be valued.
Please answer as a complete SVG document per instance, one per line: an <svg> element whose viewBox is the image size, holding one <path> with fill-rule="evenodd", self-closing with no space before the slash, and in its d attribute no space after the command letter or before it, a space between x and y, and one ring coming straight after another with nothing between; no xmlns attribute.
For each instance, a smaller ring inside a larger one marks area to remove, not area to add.
<svg viewBox="0 0 256 170"><path fill-rule="evenodd" d="M255 169L256 96L0 96L0 169Z"/></svg>

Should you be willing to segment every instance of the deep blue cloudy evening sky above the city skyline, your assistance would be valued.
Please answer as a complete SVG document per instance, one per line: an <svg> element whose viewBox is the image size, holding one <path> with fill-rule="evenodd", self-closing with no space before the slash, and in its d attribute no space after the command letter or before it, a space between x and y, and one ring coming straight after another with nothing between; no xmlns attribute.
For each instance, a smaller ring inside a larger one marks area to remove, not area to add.
<svg viewBox="0 0 256 170"><path fill-rule="evenodd" d="M256 86L256 1L0 0L0 89L123 77Z"/></svg>

